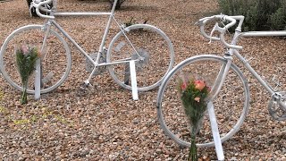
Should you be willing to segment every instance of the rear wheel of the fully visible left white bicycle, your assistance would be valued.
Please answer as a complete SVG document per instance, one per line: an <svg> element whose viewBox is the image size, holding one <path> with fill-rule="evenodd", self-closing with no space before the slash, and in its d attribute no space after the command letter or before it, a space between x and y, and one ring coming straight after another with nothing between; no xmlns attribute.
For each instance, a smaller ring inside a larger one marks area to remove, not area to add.
<svg viewBox="0 0 286 161"><path fill-rule="evenodd" d="M135 63L139 91L155 89L171 71L173 64L171 40L162 30L147 24L131 25L119 32L108 47L107 63L119 63L108 66L114 81L124 89L131 89L128 61Z"/></svg>

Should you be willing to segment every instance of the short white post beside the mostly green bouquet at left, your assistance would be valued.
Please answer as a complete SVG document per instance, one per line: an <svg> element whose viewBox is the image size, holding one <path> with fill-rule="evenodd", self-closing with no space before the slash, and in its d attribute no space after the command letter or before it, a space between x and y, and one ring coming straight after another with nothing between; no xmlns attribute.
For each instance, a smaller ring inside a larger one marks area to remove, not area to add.
<svg viewBox="0 0 286 161"><path fill-rule="evenodd" d="M41 95L41 60L38 58L36 61L35 70L35 99L38 100Z"/></svg>

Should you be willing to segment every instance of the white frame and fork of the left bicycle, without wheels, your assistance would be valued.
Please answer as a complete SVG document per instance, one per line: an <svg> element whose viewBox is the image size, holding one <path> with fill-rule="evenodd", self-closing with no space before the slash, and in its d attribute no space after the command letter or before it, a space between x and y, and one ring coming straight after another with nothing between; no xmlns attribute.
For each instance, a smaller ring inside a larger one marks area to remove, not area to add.
<svg viewBox="0 0 286 161"><path fill-rule="evenodd" d="M57 0L54 0L54 7L56 7L56 2ZM117 4L117 1L118 0L114 0L114 5L112 7L112 10L111 12L109 13L105 13L105 12L78 12L78 13L75 13L75 12L61 12L61 13L57 13L57 12L51 12L51 15L53 16L108 16L108 20L107 20L107 24L106 24L106 27L105 27L105 33L104 33L104 36L101 40L101 44L100 44L100 47L98 49L98 55L97 55L97 59L96 61L94 61L89 55L88 53L82 48L80 47L80 45L73 39L71 38L71 36L65 32L63 30L63 28L53 19L48 19L48 21L46 22L46 34L45 34L45 38L44 38L44 41L43 41L43 47L42 47L42 50L44 49L45 47L45 44L46 44L46 37L49 33L49 30L51 28L51 26L55 26L55 28L57 30L59 30L61 33L63 33L63 36L65 38L68 38L71 43L80 50L80 53L82 53L83 55L85 55L88 60L94 64L94 69L93 71L90 73L89 77L88 77L88 80L86 81L88 84L89 84L89 80L91 79L92 75L94 74L94 72L96 72L96 69L98 66L106 66L106 65L112 65L112 64L126 64L126 63L129 63L130 62L130 58L126 58L125 60L122 60L122 61L116 61L116 62L112 62L112 63L101 63L99 64L99 59L100 59L100 56L102 55L102 52L104 50L104 47L105 47L105 40L107 38L107 34L108 34L108 31L110 29L110 26L111 26L111 22L112 21L115 21L116 25L119 27L119 29L122 31L124 37L127 39L127 41L129 42L130 46L134 49L134 51L138 54L137 50L135 49L135 47L133 47L133 45L131 44L130 42L130 39L126 36L124 30L122 29L121 25L118 23L118 21L115 20L114 18L114 11L115 11L115 6ZM43 52L42 52L43 53ZM45 55L44 55L45 56ZM139 56L140 57L140 56ZM135 62L137 62L139 60L135 60Z"/></svg>

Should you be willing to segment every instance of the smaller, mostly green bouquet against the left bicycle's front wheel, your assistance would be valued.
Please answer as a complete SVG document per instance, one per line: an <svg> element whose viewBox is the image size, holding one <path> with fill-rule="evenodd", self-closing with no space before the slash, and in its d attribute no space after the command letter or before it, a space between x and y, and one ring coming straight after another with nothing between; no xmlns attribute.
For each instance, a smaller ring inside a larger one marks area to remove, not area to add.
<svg viewBox="0 0 286 161"><path fill-rule="evenodd" d="M38 48L29 47L22 45L21 47L15 48L16 52L16 63L18 71L21 76L22 94L21 94L21 105L27 104L27 88L29 76L35 70L35 64L39 58Z"/></svg>

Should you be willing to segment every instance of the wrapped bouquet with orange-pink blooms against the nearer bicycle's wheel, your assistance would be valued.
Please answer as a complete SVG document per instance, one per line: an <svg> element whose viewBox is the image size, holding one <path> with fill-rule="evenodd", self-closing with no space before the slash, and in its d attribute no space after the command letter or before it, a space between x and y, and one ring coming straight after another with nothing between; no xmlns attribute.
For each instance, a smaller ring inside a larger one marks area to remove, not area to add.
<svg viewBox="0 0 286 161"><path fill-rule="evenodd" d="M206 112L210 88L206 86L205 80L196 80L192 77L181 77L178 85L181 103L191 124L189 160L197 161L196 136L199 131L199 124L202 122Z"/></svg>

